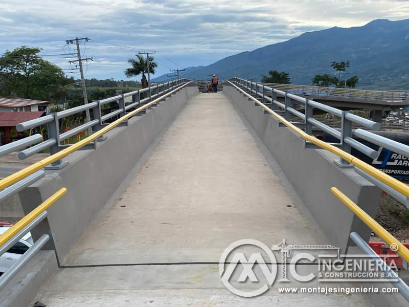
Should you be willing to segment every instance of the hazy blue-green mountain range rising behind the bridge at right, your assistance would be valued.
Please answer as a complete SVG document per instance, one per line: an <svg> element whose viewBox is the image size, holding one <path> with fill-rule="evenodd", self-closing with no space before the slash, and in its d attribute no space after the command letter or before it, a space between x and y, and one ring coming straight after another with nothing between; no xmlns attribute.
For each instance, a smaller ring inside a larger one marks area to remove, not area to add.
<svg viewBox="0 0 409 307"><path fill-rule="evenodd" d="M349 61L345 78L358 76L357 87L409 90L409 19L376 19L362 27L333 27L306 32L284 42L223 58L205 67L190 67L181 77L208 80L217 74L261 79L268 70L289 73L293 84L310 85L316 74L337 73L332 61ZM168 80L167 75L152 79Z"/></svg>

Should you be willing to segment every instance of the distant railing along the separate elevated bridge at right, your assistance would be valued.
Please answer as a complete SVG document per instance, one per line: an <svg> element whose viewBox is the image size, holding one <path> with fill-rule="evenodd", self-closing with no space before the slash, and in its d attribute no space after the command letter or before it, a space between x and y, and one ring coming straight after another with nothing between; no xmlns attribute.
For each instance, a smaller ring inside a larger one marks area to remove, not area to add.
<svg viewBox="0 0 409 307"><path fill-rule="evenodd" d="M380 100L388 102L403 102L409 100L409 91L370 91L357 89L342 89L338 87L278 84L278 83L258 83L274 87L274 89L304 96L342 96L347 98L357 98L365 100Z"/></svg>

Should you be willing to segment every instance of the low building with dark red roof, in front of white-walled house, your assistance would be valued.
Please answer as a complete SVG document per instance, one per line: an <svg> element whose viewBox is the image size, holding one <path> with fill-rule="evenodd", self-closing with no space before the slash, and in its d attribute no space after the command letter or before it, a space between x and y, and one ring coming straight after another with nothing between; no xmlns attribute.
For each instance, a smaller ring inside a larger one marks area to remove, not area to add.
<svg viewBox="0 0 409 307"><path fill-rule="evenodd" d="M3 107L3 106L2 106ZM16 126L19 123L36 119L46 115L44 111L19 111L0 112L0 143L1 145L24 138L22 133L18 133Z"/></svg>

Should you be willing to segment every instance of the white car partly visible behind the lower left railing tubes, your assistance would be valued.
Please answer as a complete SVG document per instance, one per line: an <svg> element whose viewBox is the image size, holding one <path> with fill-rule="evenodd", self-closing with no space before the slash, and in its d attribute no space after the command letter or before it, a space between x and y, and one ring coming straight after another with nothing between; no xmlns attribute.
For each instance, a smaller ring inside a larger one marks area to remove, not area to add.
<svg viewBox="0 0 409 307"><path fill-rule="evenodd" d="M0 235L11 226L0 226ZM0 256L0 275L6 272L34 244L31 233L27 233L12 248Z"/></svg>

